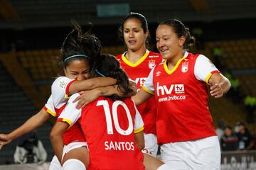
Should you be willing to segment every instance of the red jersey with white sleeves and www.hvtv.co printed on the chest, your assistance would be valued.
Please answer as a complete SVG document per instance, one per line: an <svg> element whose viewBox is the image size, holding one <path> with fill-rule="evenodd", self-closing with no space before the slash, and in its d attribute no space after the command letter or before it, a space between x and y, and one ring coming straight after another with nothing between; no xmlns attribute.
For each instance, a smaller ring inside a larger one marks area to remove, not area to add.
<svg viewBox="0 0 256 170"><path fill-rule="evenodd" d="M143 89L154 93L158 103L156 127L159 143L216 135L208 108L206 84L215 72L218 69L206 57L186 52L174 69L169 70L164 62L149 74Z"/></svg>

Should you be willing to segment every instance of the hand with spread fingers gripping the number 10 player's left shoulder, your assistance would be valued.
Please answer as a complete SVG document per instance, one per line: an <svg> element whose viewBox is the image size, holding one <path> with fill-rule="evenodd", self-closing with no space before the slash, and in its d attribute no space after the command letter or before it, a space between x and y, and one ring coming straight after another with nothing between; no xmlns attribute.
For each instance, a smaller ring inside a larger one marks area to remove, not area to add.
<svg viewBox="0 0 256 170"><path fill-rule="evenodd" d="M80 96L75 98L73 103L78 101L78 104L76 108L83 108L87 104L91 103L92 101L95 101L99 97L99 93L97 93L96 89L92 89L90 91L80 91L79 92Z"/></svg>

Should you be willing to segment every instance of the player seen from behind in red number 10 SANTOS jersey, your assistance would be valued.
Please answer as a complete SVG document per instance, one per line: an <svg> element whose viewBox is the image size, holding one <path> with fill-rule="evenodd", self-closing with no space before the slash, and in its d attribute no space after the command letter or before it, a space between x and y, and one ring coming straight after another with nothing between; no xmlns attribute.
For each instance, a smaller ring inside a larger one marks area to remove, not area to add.
<svg viewBox="0 0 256 170"><path fill-rule="evenodd" d="M98 76L117 79L118 89L122 94L132 91L128 86L127 75L114 56L102 55L97 70ZM90 151L89 169L144 169L144 156L138 149L144 147L144 123L132 99L117 95L99 97L85 108L78 109L76 103L73 103L78 95L70 97L68 105L50 132L50 140L58 157L63 155L63 132L79 123ZM159 160L147 156L151 164L156 162L154 168L157 166L159 169L168 169Z"/></svg>

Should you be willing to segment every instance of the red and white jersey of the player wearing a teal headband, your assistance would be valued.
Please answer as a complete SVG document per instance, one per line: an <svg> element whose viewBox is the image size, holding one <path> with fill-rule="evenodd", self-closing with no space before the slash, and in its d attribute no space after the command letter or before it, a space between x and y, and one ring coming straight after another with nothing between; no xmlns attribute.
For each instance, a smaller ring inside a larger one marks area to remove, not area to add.
<svg viewBox="0 0 256 170"><path fill-rule="evenodd" d="M68 79L68 77L55 79L52 84L52 95L44 106L44 109L50 115L59 117L68 102L68 88L74 81L73 79ZM85 142L85 137L78 123L63 134L63 141L64 145L68 145L71 142Z"/></svg>

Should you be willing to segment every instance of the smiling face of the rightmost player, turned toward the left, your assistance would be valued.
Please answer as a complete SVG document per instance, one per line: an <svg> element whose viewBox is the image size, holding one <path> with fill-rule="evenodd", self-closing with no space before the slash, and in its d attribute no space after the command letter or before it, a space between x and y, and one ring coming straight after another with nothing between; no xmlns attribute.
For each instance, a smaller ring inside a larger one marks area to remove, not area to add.
<svg viewBox="0 0 256 170"><path fill-rule="evenodd" d="M186 38L183 36L178 38L171 26L160 25L156 29L156 47L164 60L169 60L182 54L185 40Z"/></svg>

